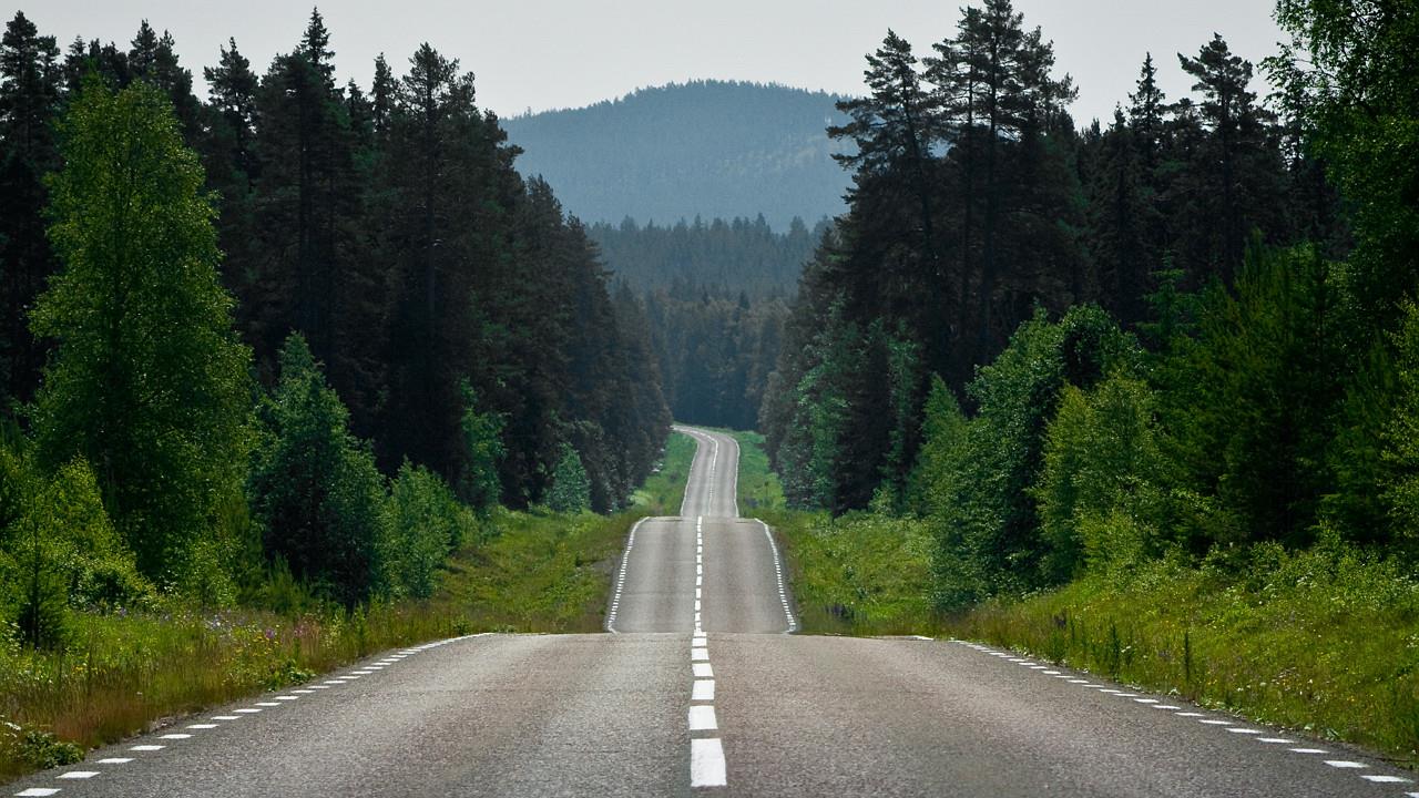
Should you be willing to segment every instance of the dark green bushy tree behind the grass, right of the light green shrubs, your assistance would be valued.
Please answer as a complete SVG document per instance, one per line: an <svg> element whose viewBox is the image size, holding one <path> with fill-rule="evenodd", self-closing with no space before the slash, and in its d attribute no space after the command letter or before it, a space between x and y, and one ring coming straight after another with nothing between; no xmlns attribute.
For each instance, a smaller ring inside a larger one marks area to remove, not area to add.
<svg viewBox="0 0 1419 798"><path fill-rule="evenodd" d="M1235 293L1210 288L1199 314L1196 338L1161 368L1169 447L1188 487L1236 515L1218 540L1303 545L1354 368L1344 281L1314 248L1256 246Z"/></svg>

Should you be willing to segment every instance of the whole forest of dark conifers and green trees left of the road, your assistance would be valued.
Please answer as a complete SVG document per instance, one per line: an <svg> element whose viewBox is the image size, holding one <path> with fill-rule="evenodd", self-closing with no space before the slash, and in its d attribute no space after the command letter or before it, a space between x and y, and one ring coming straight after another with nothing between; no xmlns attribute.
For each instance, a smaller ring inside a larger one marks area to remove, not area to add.
<svg viewBox="0 0 1419 798"><path fill-rule="evenodd" d="M660 459L644 310L473 75L424 44L336 85L332 41L318 11L264 70L228 41L199 99L148 21L6 24L7 645L291 579L427 598L490 510L616 510Z"/></svg>

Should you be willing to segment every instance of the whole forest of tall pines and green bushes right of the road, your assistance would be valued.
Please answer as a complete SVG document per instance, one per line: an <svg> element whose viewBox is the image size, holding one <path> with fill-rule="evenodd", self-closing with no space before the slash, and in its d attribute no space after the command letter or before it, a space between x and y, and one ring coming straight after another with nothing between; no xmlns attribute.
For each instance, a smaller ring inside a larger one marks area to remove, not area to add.
<svg viewBox="0 0 1419 798"><path fill-rule="evenodd" d="M1084 129L1010 0L888 31L759 415L788 500L921 520L945 612L1311 547L1412 572L1419 14L1276 18L1260 65L1148 54Z"/></svg>

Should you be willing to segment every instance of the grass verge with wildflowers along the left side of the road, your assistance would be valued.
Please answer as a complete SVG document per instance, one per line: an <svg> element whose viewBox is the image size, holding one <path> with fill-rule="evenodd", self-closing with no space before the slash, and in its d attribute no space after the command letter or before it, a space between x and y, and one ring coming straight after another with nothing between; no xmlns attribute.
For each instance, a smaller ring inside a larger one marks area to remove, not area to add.
<svg viewBox="0 0 1419 798"><path fill-rule="evenodd" d="M385 649L484 630L600 632L626 532L680 511L692 456L692 440L671 436L660 471L614 515L495 511L427 602L75 613L60 652L21 649L0 630L0 782Z"/></svg>

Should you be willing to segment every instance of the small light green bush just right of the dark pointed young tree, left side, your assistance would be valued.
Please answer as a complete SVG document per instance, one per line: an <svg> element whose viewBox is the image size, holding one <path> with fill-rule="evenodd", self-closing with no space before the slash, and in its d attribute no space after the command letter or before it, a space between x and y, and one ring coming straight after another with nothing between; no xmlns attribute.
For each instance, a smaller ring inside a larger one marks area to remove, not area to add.
<svg viewBox="0 0 1419 798"><path fill-rule="evenodd" d="M404 463L390 484L385 569L394 595L427 599L448 554L478 537L478 520L429 469Z"/></svg>

